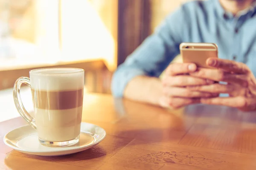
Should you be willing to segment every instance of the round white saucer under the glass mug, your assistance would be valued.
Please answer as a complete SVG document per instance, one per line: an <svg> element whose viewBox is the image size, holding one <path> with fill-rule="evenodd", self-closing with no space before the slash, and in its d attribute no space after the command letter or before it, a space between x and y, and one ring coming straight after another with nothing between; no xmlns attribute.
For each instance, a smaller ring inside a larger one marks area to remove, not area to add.
<svg viewBox="0 0 256 170"><path fill-rule="evenodd" d="M67 147L41 145L38 141L37 131L30 125L10 131L4 136L3 141L9 147L22 153L38 156L61 156L87 150L101 142L105 136L106 132L103 128L82 122L79 142Z"/></svg>

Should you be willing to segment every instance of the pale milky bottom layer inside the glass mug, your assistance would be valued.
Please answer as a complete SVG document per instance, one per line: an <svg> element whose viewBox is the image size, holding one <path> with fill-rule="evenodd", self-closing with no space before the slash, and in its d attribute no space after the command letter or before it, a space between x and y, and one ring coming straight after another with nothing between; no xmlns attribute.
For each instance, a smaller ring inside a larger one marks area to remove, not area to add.
<svg viewBox="0 0 256 170"><path fill-rule="evenodd" d="M82 106L67 110L36 109L35 123L38 137L45 141L61 142L80 134Z"/></svg>

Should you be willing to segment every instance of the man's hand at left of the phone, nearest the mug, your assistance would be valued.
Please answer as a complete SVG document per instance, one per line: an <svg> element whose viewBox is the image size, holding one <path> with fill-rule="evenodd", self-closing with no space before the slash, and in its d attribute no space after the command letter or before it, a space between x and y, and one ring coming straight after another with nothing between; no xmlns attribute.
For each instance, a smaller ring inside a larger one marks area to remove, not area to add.
<svg viewBox="0 0 256 170"><path fill-rule="evenodd" d="M218 94L192 91L188 86L211 85L212 80L205 78L192 77L189 73L193 73L197 67L193 63L174 63L166 69L163 78L163 95L160 98L160 105L169 108L180 108L189 104L199 103L201 97L216 97Z"/></svg>

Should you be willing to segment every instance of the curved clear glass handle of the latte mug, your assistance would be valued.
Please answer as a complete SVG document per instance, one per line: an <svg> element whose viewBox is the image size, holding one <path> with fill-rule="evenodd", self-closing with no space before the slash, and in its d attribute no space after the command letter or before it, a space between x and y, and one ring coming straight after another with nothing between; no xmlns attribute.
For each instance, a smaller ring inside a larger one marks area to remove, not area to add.
<svg viewBox="0 0 256 170"><path fill-rule="evenodd" d="M24 105L21 101L20 97L20 87L22 84L26 84L31 88L30 85L30 79L28 77L20 77L16 80L13 88L13 99L15 106L17 108L17 111L20 113L20 115L23 117L23 119L28 122L34 129L36 129L35 125L35 119L29 115L28 111L24 108Z"/></svg>

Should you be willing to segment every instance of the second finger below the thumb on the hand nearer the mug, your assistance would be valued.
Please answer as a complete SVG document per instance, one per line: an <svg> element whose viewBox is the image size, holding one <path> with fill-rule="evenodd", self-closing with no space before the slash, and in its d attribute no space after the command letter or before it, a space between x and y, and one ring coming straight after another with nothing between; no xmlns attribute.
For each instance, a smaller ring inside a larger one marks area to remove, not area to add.
<svg viewBox="0 0 256 170"><path fill-rule="evenodd" d="M172 97L187 97L187 98L195 98L195 97L217 97L218 94L212 94L201 91L191 91L188 88L180 88L180 87L166 87L163 89L163 94L166 96Z"/></svg>

